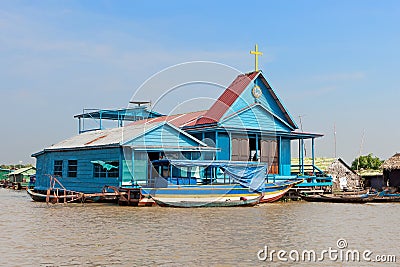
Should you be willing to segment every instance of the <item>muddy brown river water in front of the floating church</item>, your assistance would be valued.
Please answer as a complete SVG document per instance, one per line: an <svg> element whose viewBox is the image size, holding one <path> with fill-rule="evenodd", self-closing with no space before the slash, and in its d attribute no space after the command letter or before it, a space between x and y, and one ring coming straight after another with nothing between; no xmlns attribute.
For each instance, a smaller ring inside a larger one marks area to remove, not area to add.
<svg viewBox="0 0 400 267"><path fill-rule="evenodd" d="M32 202L25 191L6 189L0 189L0 203L0 266L372 266L376 263L367 260L391 255L400 262L400 203L47 205ZM346 248L338 247L339 239ZM271 261L265 259L266 246L269 256L271 250L287 253L280 259L272 254ZM331 258L321 253L329 248ZM357 262L341 260L340 252L350 249L372 254ZM304 250L314 250L319 259L309 262L307 254L302 259Z"/></svg>

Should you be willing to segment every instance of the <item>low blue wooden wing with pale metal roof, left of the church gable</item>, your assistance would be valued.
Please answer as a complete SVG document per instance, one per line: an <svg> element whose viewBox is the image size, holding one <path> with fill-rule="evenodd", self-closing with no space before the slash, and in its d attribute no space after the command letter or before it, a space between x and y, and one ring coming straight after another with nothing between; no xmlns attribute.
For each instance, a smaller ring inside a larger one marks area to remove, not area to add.
<svg viewBox="0 0 400 267"><path fill-rule="evenodd" d="M104 185L148 184L148 155L183 158L205 151L215 154L216 149L168 122L88 131L33 154L35 189L46 190L49 175L84 193L101 192Z"/></svg>

